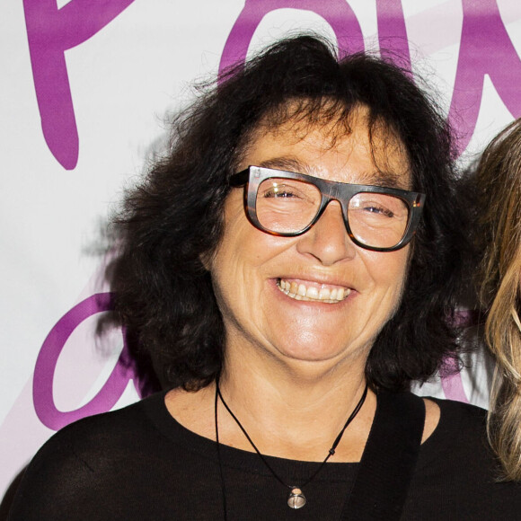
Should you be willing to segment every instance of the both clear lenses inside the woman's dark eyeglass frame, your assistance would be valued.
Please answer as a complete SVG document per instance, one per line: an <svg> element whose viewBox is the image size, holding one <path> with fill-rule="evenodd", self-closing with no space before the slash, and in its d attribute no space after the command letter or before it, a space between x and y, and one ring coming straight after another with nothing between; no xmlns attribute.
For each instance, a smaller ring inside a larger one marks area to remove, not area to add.
<svg viewBox="0 0 521 521"><path fill-rule="evenodd" d="M310 225L322 201L312 183L285 178L262 181L256 213L261 225L277 234L295 234ZM390 194L359 192L349 200L348 222L359 243L393 248L400 243L409 222L407 203Z"/></svg>

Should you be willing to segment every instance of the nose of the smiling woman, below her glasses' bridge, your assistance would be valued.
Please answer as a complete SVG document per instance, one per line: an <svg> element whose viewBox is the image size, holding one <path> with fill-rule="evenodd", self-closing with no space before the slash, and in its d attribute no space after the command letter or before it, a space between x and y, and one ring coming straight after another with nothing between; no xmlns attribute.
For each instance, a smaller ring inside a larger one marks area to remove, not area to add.
<svg viewBox="0 0 521 521"><path fill-rule="evenodd" d="M338 201L331 201L319 220L301 236L297 250L313 255L324 266L354 257L355 244L349 239Z"/></svg>

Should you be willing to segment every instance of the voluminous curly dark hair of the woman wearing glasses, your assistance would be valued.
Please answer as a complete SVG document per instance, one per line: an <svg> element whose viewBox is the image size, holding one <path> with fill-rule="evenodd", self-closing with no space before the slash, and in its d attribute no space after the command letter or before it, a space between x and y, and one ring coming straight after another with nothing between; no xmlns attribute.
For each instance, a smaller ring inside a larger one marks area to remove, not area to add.
<svg viewBox="0 0 521 521"><path fill-rule="evenodd" d="M297 110L288 110L288 107ZM373 389L426 380L457 359L451 315L461 280L464 226L455 202L450 128L411 74L365 53L339 59L331 44L303 35L265 49L210 85L172 125L170 149L114 219L120 237L111 279L134 349L163 387L197 390L223 363L225 329L201 258L223 233L228 180L261 122L346 121L360 106L368 128L386 128L411 163L412 190L427 194L413 241L402 303L366 362Z"/></svg>

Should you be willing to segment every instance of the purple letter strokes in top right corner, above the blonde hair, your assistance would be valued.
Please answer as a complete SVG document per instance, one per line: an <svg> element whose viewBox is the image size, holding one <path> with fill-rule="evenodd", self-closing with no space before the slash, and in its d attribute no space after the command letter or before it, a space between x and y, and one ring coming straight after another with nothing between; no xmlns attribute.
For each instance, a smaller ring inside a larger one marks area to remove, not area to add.
<svg viewBox="0 0 521 521"><path fill-rule="evenodd" d="M521 61L499 15L495 0L463 0L464 23L449 119L464 151L480 112L483 77L490 75L496 91L514 118L521 116Z"/></svg>

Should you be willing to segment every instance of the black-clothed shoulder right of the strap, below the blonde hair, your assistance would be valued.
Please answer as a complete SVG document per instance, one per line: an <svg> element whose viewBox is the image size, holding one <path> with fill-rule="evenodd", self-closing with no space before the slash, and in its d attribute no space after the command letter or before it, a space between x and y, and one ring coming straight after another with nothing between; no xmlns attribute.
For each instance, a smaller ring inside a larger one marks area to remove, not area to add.
<svg viewBox="0 0 521 521"><path fill-rule="evenodd" d="M517 518L521 486L499 481L499 462L487 440L487 411L428 399L437 403L440 418L421 446L405 518L419 518L419 512L425 520Z"/></svg>

